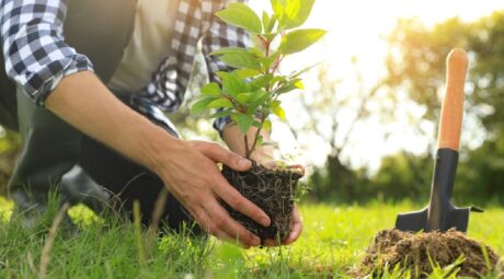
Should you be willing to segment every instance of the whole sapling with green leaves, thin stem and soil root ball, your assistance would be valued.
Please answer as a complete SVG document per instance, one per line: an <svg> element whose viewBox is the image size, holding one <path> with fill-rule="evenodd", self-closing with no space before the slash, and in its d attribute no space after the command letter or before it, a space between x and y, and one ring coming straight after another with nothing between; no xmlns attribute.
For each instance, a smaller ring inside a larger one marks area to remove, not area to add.
<svg viewBox="0 0 504 279"><path fill-rule="evenodd" d="M282 74L278 68L285 58L306 49L325 34L325 31L319 28L298 28L308 19L313 2L314 0L272 0L273 13L263 12L262 16L259 16L248 5L237 2L229 3L226 9L216 13L216 16L224 22L249 32L257 44L256 47L249 48L226 47L210 54L219 56L224 63L234 70L230 72L217 72L220 84L210 82L203 86L201 90L202 94L193 104L191 112L192 114L201 114L205 111L217 109L210 117L230 117L231 123L237 125L243 135L244 155L248 159L251 159L252 153L263 143L261 131L265 130L270 132L272 130L270 116L274 114L283 121L286 120L285 111L282 107L279 97L295 90L303 89L300 74L307 69L298 70L290 74ZM255 131L253 132L253 137L250 138L249 131L252 128L255 128ZM272 183L275 179L284 181L283 184L286 184L285 187L288 190L287 198L290 199L290 206L287 210L291 210L293 190L297 179L301 175L294 174L293 176L291 172L287 172L288 177L284 179L278 178L277 173L270 172L270 174L265 174L267 170L257 167L260 166L254 164L255 171L252 170L253 176L273 175L273 177L270 177L273 181L267 181ZM231 170L226 168L226 166L224 167L222 173L225 176L245 197L247 193L243 193L243 188L236 184L247 184L250 186L251 184L255 185L259 183L252 182L254 179L251 181L250 177L244 182L243 174L230 172ZM285 173L280 172L284 176ZM236 176L234 178L238 181L229 176ZM236 181L234 184L232 183L233 179ZM256 177L255 181L263 179ZM262 186L272 187L271 185ZM256 191L256 189L251 190L251 195L255 195ZM260 199L255 200L256 204L261 202ZM254 201L253 199L251 200ZM231 216L233 216L233 212L231 212ZM286 221L290 222L290 217L288 218ZM278 224L274 224L273 226L276 225ZM245 226L249 228L247 224ZM252 231L257 233L257 230ZM284 237L289 231L290 226L287 224L287 229L280 232L279 236ZM276 228L266 236L276 237L277 235L275 234L277 232ZM259 233L261 234L261 232ZM260 236L263 239L262 235Z"/></svg>

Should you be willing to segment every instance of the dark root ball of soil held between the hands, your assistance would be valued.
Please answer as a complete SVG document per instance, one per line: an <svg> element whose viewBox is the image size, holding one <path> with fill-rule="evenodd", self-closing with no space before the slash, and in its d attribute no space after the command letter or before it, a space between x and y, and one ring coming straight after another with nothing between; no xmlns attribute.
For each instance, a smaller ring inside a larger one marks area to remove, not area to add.
<svg viewBox="0 0 504 279"><path fill-rule="evenodd" d="M293 229L296 187L302 174L270 170L253 164L248 172L236 172L224 165L222 175L241 195L262 208L272 223L267 228L262 226L224 202L233 219L257 235L262 242L265 240L284 240L289 235Z"/></svg>

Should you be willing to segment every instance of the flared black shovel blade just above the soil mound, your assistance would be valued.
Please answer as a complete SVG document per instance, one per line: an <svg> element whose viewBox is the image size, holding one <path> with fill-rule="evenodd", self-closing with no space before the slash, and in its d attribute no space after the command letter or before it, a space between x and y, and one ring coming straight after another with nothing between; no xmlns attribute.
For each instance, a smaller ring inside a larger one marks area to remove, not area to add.
<svg viewBox="0 0 504 279"><path fill-rule="evenodd" d="M396 229L406 232L446 232L455 228L457 231L467 232L471 211L480 210L472 207L456 208L448 205L439 211L442 214L436 216L429 214L428 207L426 207L420 211L399 214L396 221Z"/></svg>

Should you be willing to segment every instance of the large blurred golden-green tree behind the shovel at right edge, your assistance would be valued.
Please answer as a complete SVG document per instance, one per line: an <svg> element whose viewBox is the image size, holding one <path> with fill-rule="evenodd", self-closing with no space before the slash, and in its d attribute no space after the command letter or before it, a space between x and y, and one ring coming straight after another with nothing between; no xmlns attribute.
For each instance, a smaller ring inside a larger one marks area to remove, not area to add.
<svg viewBox="0 0 504 279"><path fill-rule="evenodd" d="M436 124L446 55L454 47L468 51L470 69L466 83L465 128L470 129L470 137L462 141L455 195L465 200L504 201L504 12L494 12L471 23L450 19L431 28L415 20L402 20L388 39L390 54L386 60L388 77L385 83L391 95L401 90L408 92L411 100L425 106L423 117ZM483 143L470 149L469 140L478 138L483 139ZM433 150L435 140L426 154ZM409 164L405 168L404 162ZM404 194L411 195L416 191L412 185L417 184L417 177L408 172L422 170L419 168L422 166L426 167L424 171L431 170L432 164L429 155L422 159L398 154L383 159L374 182L377 187L387 184L391 188L409 187L404 188L408 189ZM394 174L393 170L401 168L402 175L397 171ZM422 193L426 194L419 191Z"/></svg>

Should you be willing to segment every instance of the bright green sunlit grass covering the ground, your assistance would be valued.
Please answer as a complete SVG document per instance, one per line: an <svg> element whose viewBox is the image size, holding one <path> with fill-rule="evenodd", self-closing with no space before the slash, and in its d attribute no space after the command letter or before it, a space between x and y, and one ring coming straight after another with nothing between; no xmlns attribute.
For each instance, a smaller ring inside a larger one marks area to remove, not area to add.
<svg viewBox="0 0 504 279"><path fill-rule="evenodd" d="M415 208L408 202L302 205L305 231L297 243L242 251L187 234L168 234L147 247L147 230L117 218L96 219L82 207L71 209L80 222L77 232L51 234L55 212L45 224L27 231L15 217L4 222L10 206L0 198L0 278L350 278L348 268L360 260L374 234L392 228L398 212ZM493 207L472 214L468 234L504 255L504 209ZM50 251L43 253L51 237ZM41 263L47 265L42 268ZM454 278L445 269L436 268L431 278ZM404 277L408 274L399 269L382 276Z"/></svg>

